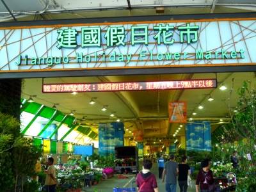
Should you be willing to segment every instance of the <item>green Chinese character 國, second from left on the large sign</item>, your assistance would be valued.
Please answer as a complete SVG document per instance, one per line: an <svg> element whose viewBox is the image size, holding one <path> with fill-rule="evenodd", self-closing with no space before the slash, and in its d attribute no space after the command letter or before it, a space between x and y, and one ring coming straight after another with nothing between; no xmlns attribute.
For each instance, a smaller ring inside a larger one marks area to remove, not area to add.
<svg viewBox="0 0 256 192"><path fill-rule="evenodd" d="M100 46L100 27L82 28L81 47Z"/></svg>

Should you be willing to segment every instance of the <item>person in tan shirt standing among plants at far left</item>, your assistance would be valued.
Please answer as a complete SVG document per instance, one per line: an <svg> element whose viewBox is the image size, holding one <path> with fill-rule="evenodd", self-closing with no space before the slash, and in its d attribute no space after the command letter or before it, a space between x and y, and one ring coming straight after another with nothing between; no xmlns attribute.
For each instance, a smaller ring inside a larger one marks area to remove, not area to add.
<svg viewBox="0 0 256 192"><path fill-rule="evenodd" d="M47 172L45 179L45 188L47 192L56 192L56 168L53 165L54 159L52 157L48 158L47 164Z"/></svg>

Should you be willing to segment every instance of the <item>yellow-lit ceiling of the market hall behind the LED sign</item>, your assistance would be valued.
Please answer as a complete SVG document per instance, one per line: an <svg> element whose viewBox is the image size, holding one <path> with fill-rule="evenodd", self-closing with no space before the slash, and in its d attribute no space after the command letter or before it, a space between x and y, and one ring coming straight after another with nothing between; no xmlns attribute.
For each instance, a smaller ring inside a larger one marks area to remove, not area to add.
<svg viewBox="0 0 256 192"><path fill-rule="evenodd" d="M42 93L42 83L96 83L96 82L131 82L164 81L175 79L214 79L218 88L196 90L164 90L139 92L93 92L93 93ZM193 120L210 120L212 131L218 125L230 121L237 104L237 90L243 81L256 82L253 72L221 74L170 74L151 76L108 76L108 77L56 77L45 79L23 79L22 98L34 95L35 102L52 107L54 104L62 113L74 116L81 124L94 127L104 122L116 122L120 119L125 124L125 136L132 138L132 132L143 129L144 140L175 140L184 136L184 126L173 137L180 124L168 123L168 102L186 101L188 104L188 122ZM220 90L225 85L227 90ZM209 101L211 97L212 101ZM95 104L90 104L97 98ZM198 109L198 106L203 109ZM102 107L107 106L107 111ZM111 113L115 116L111 117ZM195 114L196 113L196 114ZM194 115L193 115L194 114ZM157 144L157 143L156 143Z"/></svg>

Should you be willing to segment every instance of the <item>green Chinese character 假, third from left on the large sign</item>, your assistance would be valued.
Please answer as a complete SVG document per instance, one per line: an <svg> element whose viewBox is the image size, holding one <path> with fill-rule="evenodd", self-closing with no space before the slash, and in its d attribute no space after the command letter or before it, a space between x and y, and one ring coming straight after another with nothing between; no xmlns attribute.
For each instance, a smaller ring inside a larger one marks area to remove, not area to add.
<svg viewBox="0 0 256 192"><path fill-rule="evenodd" d="M125 45L125 30L124 27L109 27L104 37L107 40L107 46Z"/></svg>

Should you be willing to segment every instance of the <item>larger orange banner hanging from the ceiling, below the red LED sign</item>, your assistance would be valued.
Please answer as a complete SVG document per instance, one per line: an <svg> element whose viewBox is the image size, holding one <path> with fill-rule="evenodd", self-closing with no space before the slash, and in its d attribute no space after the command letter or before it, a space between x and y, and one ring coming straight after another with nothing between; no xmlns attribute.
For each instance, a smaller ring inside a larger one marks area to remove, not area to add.
<svg viewBox="0 0 256 192"><path fill-rule="evenodd" d="M184 101L170 102L168 106L170 123L186 123L187 103Z"/></svg>

